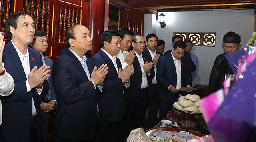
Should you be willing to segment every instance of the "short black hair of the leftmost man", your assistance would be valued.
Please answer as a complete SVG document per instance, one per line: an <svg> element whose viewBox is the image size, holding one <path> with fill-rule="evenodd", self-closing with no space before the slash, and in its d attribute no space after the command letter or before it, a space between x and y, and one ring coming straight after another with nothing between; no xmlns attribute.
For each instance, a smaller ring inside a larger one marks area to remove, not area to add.
<svg viewBox="0 0 256 142"><path fill-rule="evenodd" d="M10 15L10 17L6 19L6 34L7 38L10 40L12 40L12 33L10 31L10 27L12 26L14 29L17 29L17 21L21 15L22 17L25 17L26 15L29 15L29 13L25 11L14 12L13 14Z"/></svg>

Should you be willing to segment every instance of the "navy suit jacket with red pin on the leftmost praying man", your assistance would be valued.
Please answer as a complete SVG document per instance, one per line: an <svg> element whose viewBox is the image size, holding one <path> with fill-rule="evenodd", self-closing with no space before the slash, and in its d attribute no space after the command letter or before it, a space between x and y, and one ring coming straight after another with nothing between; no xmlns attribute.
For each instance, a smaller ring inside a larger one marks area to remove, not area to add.
<svg viewBox="0 0 256 142"><path fill-rule="evenodd" d="M40 68L43 65L39 52L28 48L30 71L34 66ZM15 87L10 96L0 96L2 101L3 123L0 126L0 142L28 142L30 136L31 116L32 116L32 98L36 107L36 128L39 138L42 138L42 120L40 112L39 95L36 88L27 92L26 74L20 62L12 42L5 45L3 53L3 62L6 71L14 79ZM49 83L46 80L43 84L43 97L49 91Z"/></svg>

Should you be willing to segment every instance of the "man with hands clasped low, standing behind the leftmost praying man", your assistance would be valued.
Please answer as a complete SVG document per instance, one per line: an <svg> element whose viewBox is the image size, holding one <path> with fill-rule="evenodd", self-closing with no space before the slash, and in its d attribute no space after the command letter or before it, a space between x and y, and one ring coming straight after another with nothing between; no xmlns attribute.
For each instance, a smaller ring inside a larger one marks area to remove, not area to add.
<svg viewBox="0 0 256 142"><path fill-rule="evenodd" d="M42 55L43 64L50 66L50 70L52 70L53 62L50 58L43 56L43 53L46 52L48 48L46 33L44 31L36 31L34 34L33 42L30 44L32 48L40 52ZM48 126L50 121L50 111L54 110L54 106L56 104L56 94L54 92L54 85L52 83L52 73L50 72L50 76L47 78L50 83L50 90L48 94L42 98L41 105L41 114L42 114L42 122L43 122L43 141L46 142ZM55 107L56 108L56 107Z"/></svg>

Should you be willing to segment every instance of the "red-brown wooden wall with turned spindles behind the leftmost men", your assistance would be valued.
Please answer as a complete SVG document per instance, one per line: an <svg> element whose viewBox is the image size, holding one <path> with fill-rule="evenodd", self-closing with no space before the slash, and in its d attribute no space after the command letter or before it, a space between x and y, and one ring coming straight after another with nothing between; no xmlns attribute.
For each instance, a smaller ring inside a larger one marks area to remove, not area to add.
<svg viewBox="0 0 256 142"><path fill-rule="evenodd" d="M83 8L84 6L84 8ZM5 34L5 20L12 12L26 11L35 22L36 30L46 32L48 50L44 56L55 60L65 47L66 30L74 24L88 26L88 1L84 0L0 0L0 25ZM83 14L82 14L83 13Z"/></svg>

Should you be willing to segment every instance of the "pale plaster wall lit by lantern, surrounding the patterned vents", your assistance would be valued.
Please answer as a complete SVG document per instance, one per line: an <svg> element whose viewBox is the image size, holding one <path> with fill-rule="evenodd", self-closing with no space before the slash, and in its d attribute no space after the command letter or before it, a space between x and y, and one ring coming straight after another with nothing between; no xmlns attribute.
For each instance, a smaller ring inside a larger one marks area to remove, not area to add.
<svg viewBox="0 0 256 142"><path fill-rule="evenodd" d="M145 14L144 37L151 32L156 33L158 38L166 42L166 50L172 49L173 32L216 32L215 47L193 46L192 48L191 52L198 57L197 75L193 85L208 85L214 60L216 56L224 53L222 37L227 32L234 31L241 36L242 48L254 32L255 10L253 9L163 13L166 15L165 28L160 28L159 23L152 21L153 14ZM155 27L149 21L152 21Z"/></svg>

